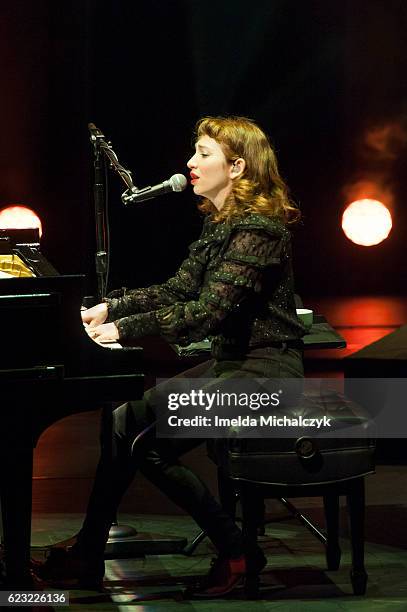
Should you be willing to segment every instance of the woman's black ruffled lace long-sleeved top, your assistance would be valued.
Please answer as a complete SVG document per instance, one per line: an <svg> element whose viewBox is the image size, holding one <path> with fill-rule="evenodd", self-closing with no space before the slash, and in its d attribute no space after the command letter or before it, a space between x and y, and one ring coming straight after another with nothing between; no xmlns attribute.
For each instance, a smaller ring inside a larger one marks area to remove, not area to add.
<svg viewBox="0 0 407 612"><path fill-rule="evenodd" d="M148 335L181 345L214 337L245 350L305 331L295 313L290 234L257 214L216 224L207 217L175 276L114 291L106 302L123 344Z"/></svg>

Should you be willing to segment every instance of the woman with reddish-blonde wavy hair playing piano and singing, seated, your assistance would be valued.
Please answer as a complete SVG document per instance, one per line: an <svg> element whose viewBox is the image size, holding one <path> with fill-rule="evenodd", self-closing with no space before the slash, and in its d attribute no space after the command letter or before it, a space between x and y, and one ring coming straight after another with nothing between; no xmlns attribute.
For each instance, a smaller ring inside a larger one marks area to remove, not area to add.
<svg viewBox="0 0 407 612"><path fill-rule="evenodd" d="M148 335L184 345L211 337L213 360L185 373L191 378L301 377L304 328L295 312L286 228L299 211L267 137L244 117L206 117L196 125L195 153L187 165L206 215L189 257L162 285L114 292L82 313L84 323L96 340L123 344ZM82 584L101 582L111 519L140 469L217 547L219 558L197 594L219 597L261 571L265 557L257 547L248 549L204 483L179 462L202 441L156 438L156 410L151 390L113 412L113 453L102 446L78 541L59 561L51 558L48 571L71 573Z"/></svg>

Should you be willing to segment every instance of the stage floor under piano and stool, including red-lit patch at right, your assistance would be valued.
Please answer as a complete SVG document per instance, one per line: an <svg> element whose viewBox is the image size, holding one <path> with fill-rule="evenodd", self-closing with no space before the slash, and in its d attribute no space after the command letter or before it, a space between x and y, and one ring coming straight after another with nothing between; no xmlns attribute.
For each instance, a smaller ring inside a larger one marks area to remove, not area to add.
<svg viewBox="0 0 407 612"><path fill-rule="evenodd" d="M341 360L407 321L407 300L394 297L309 298L305 307L324 314L346 338L347 349L310 351L306 369L311 376L342 376ZM33 487L33 545L46 546L74 535L86 508L99 454L99 414L75 414L58 421L35 451ZM401 441L399 441L401 442ZM185 457L216 493L216 471L205 447ZM406 463L405 461L404 463ZM350 554L346 512L342 509L343 561L338 572L327 572L322 545L291 519L277 501L268 501L273 522L262 545L269 564L264 572L263 599L253 610L317 612L407 609L407 466L379 465L367 478L366 568L367 595L354 597L349 581ZM321 500L297 504L323 525ZM161 513L161 514L158 514ZM126 494L120 521L139 531L179 535L189 540L197 528L160 492L137 478ZM41 557L39 549L33 550ZM106 594L71 592L75 610L247 610L243 594L214 601L184 601L183 589L204 574L213 556L207 541L192 557L154 555L107 561Z"/></svg>

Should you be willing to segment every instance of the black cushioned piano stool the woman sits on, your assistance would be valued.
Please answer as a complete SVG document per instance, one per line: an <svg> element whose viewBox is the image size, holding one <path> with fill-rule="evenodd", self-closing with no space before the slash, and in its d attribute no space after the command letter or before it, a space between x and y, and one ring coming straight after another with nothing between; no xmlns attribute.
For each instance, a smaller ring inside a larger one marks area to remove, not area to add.
<svg viewBox="0 0 407 612"><path fill-rule="evenodd" d="M323 406L305 398L290 416L305 417L324 411L332 420L363 425L362 408L342 395L324 395ZM216 441L210 455L219 466L220 497L233 513L233 491L240 497L242 529L256 541L264 517L264 499L280 498L295 516L326 545L329 570L339 568L339 496L346 495L352 547L351 582L355 595L366 592L364 566L364 477L374 472L375 441L372 438L232 438ZM324 500L326 537L286 500L291 497L321 496ZM236 495L235 495L236 497ZM257 597L258 579L247 584L247 595Z"/></svg>

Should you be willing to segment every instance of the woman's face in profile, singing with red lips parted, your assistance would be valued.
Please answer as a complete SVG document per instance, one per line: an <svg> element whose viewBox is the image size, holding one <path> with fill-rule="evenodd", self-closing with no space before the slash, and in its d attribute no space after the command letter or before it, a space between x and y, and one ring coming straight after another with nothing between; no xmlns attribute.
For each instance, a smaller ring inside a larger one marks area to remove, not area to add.
<svg viewBox="0 0 407 612"><path fill-rule="evenodd" d="M201 136L195 154L188 161L194 193L208 198L218 210L232 189L233 164L210 136Z"/></svg>

